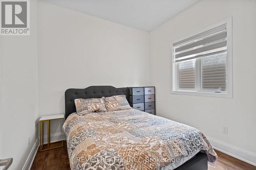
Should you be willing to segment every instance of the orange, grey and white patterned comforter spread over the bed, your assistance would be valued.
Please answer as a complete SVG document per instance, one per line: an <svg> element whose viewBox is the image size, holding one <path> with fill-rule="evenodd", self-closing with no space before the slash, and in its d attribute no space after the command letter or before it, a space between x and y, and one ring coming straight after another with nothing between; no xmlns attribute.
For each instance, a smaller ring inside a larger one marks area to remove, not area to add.
<svg viewBox="0 0 256 170"><path fill-rule="evenodd" d="M217 155L199 130L135 109L72 113L63 125L71 169L174 169L198 152Z"/></svg>

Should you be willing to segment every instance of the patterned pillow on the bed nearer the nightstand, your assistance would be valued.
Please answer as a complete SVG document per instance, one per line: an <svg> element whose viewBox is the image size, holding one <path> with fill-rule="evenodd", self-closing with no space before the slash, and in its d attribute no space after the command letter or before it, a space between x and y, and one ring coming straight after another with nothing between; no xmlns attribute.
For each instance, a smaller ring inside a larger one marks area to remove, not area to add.
<svg viewBox="0 0 256 170"><path fill-rule="evenodd" d="M85 115L92 112L106 112L106 107L101 98L75 99L76 113Z"/></svg>

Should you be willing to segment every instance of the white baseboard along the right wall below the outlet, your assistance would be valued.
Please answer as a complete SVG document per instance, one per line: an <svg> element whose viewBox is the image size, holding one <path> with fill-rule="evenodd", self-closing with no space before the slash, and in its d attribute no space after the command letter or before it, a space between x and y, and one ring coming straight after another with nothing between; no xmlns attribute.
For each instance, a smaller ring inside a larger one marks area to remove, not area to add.
<svg viewBox="0 0 256 170"><path fill-rule="evenodd" d="M256 166L256 153L247 151L243 148L237 147L235 145L223 142L221 140L207 137L207 139L210 141L212 147L218 151L221 151L227 155L230 155L234 158L240 159L246 163L249 163L253 166Z"/></svg>

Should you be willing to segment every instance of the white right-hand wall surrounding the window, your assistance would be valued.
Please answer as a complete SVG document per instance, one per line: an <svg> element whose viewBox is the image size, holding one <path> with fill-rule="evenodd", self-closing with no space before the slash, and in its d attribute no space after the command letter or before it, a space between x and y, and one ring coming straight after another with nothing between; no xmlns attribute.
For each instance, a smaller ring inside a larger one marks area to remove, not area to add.
<svg viewBox="0 0 256 170"><path fill-rule="evenodd" d="M233 19L233 99L170 94L171 44L230 16ZM209 136L216 147L254 164L255 28L256 1L205 0L189 7L150 34L151 81L157 91L157 114L198 128ZM228 127L228 135L221 133L222 126Z"/></svg>

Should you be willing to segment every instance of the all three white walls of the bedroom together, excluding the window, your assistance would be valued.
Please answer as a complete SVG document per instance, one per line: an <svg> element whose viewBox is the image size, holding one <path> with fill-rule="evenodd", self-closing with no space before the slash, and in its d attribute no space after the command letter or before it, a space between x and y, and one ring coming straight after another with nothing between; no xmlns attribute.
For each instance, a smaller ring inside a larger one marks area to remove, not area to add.
<svg viewBox="0 0 256 170"><path fill-rule="evenodd" d="M0 37L0 129L5 129L0 158L14 158L10 169L22 169L33 149L39 115L64 113L65 90L90 85L155 85L158 115L200 129L217 146L241 151L235 156L249 161L248 155L255 156L255 1L202 0L150 34L41 1L37 9L37 1L30 2L31 35ZM170 45L230 16L233 99L170 94ZM53 139L63 137L61 123L53 124Z"/></svg>

